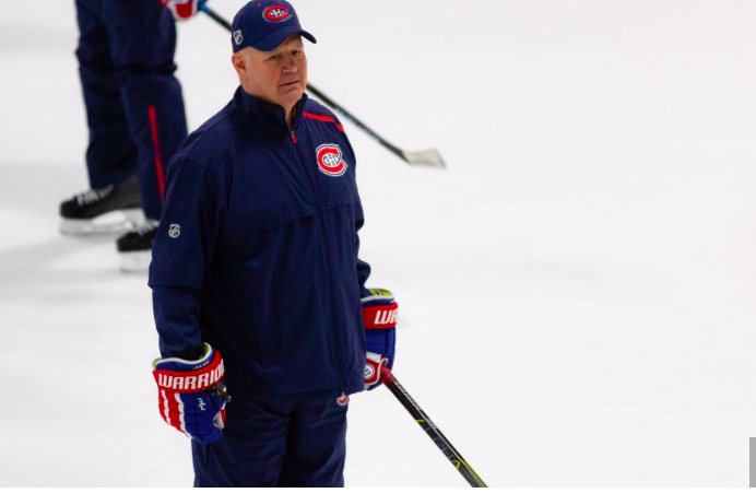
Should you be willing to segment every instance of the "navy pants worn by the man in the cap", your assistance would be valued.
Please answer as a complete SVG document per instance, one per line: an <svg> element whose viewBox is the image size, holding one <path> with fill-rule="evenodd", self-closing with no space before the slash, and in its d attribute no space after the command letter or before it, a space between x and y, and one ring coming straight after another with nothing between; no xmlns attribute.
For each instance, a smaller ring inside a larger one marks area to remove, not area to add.
<svg viewBox="0 0 756 493"><path fill-rule="evenodd" d="M223 439L192 441L194 486L334 488L344 485L346 406L234 396Z"/></svg>

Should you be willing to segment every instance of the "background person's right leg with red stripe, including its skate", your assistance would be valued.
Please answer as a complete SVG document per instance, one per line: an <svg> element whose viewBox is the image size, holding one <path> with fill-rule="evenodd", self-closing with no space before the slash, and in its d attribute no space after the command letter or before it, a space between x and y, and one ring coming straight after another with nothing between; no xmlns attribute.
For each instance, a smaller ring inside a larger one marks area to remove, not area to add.
<svg viewBox="0 0 756 493"><path fill-rule="evenodd" d="M157 0L107 1L108 42L129 134L145 224L118 239L121 269L150 265L168 162L187 137L181 86L175 77L176 25Z"/></svg>

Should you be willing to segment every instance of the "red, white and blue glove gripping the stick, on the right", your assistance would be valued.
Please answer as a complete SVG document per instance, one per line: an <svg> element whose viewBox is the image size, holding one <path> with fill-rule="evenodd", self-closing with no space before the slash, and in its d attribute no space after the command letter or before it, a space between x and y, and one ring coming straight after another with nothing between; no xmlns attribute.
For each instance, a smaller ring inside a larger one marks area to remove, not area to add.
<svg viewBox="0 0 756 493"><path fill-rule="evenodd" d="M370 296L363 298L363 319L365 324L365 390L380 385L380 369L383 365L393 367L397 344L397 309L399 305L388 290L370 290Z"/></svg>

